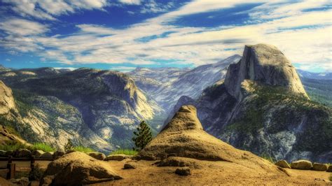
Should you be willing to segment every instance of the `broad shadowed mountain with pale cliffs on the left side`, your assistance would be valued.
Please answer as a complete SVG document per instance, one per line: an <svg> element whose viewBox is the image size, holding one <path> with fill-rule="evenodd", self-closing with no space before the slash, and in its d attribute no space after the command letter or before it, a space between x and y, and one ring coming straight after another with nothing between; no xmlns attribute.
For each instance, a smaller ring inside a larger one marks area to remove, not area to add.
<svg viewBox="0 0 332 186"><path fill-rule="evenodd" d="M29 135L22 136L60 148L68 138L102 151L112 150L114 144L125 147L132 143L132 131L141 120L162 112L120 72L22 69L2 71L0 79L13 88L17 118L29 126Z"/></svg>

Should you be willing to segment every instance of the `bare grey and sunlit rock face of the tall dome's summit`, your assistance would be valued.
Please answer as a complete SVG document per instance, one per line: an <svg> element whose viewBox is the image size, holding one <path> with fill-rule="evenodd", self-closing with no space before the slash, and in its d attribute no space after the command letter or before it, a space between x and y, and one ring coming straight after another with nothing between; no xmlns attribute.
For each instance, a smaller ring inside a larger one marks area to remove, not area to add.
<svg viewBox="0 0 332 186"><path fill-rule="evenodd" d="M286 87L308 98L291 62L272 45L245 46L241 61L231 64L227 72L225 86L228 92L240 98L241 83L246 79L264 85Z"/></svg>

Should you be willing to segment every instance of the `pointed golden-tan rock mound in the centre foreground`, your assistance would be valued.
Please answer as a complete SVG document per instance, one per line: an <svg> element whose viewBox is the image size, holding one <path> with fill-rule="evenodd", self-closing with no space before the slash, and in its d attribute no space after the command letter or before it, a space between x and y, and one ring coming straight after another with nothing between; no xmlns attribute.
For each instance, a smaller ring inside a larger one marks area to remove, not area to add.
<svg viewBox="0 0 332 186"><path fill-rule="evenodd" d="M170 123L137 155L138 159L189 157L209 161L227 161L253 169L278 171L277 166L251 152L207 134L202 129L194 106L182 106Z"/></svg>

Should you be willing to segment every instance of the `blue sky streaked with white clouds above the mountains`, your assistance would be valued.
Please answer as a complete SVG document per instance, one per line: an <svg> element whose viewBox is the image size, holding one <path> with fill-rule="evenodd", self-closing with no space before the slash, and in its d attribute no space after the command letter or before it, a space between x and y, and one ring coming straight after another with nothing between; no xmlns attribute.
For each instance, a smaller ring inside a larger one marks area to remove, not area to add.
<svg viewBox="0 0 332 186"><path fill-rule="evenodd" d="M297 69L331 72L331 9L331 0L0 0L0 64L183 68L268 43Z"/></svg>

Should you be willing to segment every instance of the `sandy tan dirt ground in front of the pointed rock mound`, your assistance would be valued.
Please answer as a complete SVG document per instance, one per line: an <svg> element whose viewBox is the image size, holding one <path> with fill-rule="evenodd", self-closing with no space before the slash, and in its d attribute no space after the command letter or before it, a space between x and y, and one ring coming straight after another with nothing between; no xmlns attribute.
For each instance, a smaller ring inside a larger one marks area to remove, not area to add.
<svg viewBox="0 0 332 186"><path fill-rule="evenodd" d="M95 185L332 185L331 173L285 169L286 173L266 174L230 162L195 160L199 169L191 168L191 176L178 176L179 167L153 165L153 161L134 162L136 169L123 169L125 162L110 161L122 180Z"/></svg>

